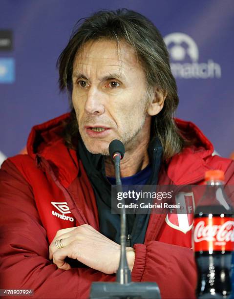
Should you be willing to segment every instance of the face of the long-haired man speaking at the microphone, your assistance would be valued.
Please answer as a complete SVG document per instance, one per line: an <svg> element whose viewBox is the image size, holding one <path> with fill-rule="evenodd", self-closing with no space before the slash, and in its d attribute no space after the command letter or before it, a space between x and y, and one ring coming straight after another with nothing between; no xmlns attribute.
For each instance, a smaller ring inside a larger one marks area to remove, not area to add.
<svg viewBox="0 0 234 299"><path fill-rule="evenodd" d="M113 41L86 43L76 55L72 80L72 103L90 152L108 155L113 139L129 150L149 136L145 73L126 43L118 50Z"/></svg>

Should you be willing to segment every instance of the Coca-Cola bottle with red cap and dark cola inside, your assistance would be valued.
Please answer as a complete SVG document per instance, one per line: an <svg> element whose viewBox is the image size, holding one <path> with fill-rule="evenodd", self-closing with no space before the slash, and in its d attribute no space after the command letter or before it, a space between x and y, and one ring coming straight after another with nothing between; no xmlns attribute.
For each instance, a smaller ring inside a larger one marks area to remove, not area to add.
<svg viewBox="0 0 234 299"><path fill-rule="evenodd" d="M224 172L207 171L207 186L194 214L193 248L198 298L230 298L234 210L224 192Z"/></svg>

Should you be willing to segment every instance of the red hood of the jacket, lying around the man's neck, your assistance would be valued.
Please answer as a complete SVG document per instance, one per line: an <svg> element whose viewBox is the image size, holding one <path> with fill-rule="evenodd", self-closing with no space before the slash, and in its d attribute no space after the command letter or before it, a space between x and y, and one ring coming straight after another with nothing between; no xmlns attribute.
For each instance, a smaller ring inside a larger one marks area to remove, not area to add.
<svg viewBox="0 0 234 299"><path fill-rule="evenodd" d="M61 136L63 123L69 115L66 113L34 126L27 141L28 154L33 158L36 156L45 158L50 165L53 165L53 170L65 185L73 181L79 170L75 150L67 149ZM181 119L175 119L175 122L182 135L191 141L192 145L174 155L170 163L167 163L167 174L171 183L179 185L203 179L205 171L208 170L205 167L205 160L211 157L213 145L193 123ZM195 177L193 173L196 174Z"/></svg>

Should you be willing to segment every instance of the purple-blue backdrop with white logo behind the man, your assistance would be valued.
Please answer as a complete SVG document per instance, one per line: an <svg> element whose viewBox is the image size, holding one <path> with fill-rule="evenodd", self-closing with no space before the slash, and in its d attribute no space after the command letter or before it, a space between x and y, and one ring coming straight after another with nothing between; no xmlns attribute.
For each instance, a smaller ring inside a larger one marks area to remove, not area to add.
<svg viewBox="0 0 234 299"><path fill-rule="evenodd" d="M126 7L165 37L177 80L177 116L196 123L225 157L234 150L233 0L0 0L0 151L18 153L31 127L68 111L56 60L73 25L98 9ZM3 45L3 46L2 46Z"/></svg>

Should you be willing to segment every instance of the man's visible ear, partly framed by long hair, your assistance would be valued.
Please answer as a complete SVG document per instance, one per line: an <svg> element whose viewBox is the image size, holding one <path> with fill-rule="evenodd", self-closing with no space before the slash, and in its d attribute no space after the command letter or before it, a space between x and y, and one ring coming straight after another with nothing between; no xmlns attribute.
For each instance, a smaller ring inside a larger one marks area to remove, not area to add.
<svg viewBox="0 0 234 299"><path fill-rule="evenodd" d="M164 101L167 97L166 91L163 92L163 90L159 89L158 87L154 87L153 90L154 93L147 109L147 112L150 116L156 115L162 110Z"/></svg>

